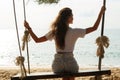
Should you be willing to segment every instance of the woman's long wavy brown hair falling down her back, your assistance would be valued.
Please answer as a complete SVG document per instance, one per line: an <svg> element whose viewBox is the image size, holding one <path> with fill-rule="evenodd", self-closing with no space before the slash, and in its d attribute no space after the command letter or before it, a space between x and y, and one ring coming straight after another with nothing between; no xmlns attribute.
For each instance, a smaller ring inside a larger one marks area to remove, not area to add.
<svg viewBox="0 0 120 80"><path fill-rule="evenodd" d="M68 30L68 18L70 16L72 16L72 10L67 7L63 8L51 25L52 34L55 37L55 44L59 49L65 48L65 36Z"/></svg>

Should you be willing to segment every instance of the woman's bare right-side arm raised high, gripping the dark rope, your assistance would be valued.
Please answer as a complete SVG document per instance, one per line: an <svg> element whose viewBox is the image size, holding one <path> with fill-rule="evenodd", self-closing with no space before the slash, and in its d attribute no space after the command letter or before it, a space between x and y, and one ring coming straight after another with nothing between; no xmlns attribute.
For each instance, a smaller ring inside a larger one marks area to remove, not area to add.
<svg viewBox="0 0 120 80"><path fill-rule="evenodd" d="M97 30L97 28L98 28L98 26L99 26L99 24L100 24L102 15L103 15L104 12L105 12L105 6L103 6L103 7L101 8L101 11L100 11L100 13L99 13L99 15L98 15L98 18L97 18L95 24L93 25L93 27L89 27L89 28L86 29L86 34L91 33L91 32L93 32L93 31Z"/></svg>

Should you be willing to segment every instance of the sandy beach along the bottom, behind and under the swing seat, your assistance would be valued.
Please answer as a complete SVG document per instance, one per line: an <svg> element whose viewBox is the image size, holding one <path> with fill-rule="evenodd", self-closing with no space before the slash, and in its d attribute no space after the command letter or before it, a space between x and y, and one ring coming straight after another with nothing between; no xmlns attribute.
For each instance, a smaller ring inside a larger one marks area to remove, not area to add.
<svg viewBox="0 0 120 80"><path fill-rule="evenodd" d="M80 68L80 70L93 70L95 68ZM120 80L120 68L110 68L111 75L103 75L102 80ZM52 70L50 68L32 68L31 73L40 73L40 72L51 72ZM0 68L0 80L10 80L10 78L14 75L17 75L20 73L19 68ZM45 80L45 79L43 79ZM46 79L46 80L61 80L61 78L58 79ZM94 80L93 76L88 77L77 77L76 80Z"/></svg>

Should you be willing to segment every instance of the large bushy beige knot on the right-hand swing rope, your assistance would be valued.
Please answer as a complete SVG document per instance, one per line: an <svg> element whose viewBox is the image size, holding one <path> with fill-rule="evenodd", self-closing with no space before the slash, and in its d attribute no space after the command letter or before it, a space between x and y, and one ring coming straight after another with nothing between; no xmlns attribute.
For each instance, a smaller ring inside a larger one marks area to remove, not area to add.
<svg viewBox="0 0 120 80"><path fill-rule="evenodd" d="M104 58L104 47L109 47L109 38L107 36L100 36L96 39L97 48L97 56Z"/></svg>

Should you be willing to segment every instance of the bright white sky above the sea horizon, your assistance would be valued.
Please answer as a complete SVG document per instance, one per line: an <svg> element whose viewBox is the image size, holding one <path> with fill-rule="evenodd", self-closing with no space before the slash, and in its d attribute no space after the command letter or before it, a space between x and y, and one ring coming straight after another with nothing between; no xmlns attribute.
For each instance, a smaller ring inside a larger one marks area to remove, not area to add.
<svg viewBox="0 0 120 80"><path fill-rule="evenodd" d="M14 29L13 0L0 0L0 29ZM29 2L28 2L29 1ZM120 0L106 0L105 27L120 29ZM57 13L64 7L73 10L73 27L92 26L99 14L103 0L60 0L58 4L38 5L35 0L25 0L26 19L33 29L49 28ZM23 29L22 0L15 0L18 27Z"/></svg>

